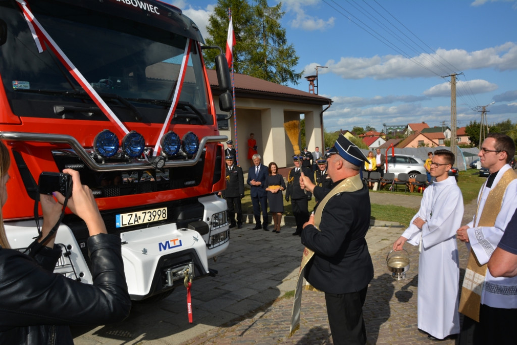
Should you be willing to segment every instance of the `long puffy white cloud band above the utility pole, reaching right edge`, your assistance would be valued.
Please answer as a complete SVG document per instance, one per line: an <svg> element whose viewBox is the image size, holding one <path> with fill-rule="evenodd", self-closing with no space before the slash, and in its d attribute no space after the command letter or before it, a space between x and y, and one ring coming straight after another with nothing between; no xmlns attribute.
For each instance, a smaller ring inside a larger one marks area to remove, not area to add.
<svg viewBox="0 0 517 345"><path fill-rule="evenodd" d="M312 65L307 65L305 70L310 71ZM474 52L438 49L434 54L420 54L411 59L401 55L341 57L338 62L330 59L325 66L328 66L325 72L336 73L344 79L376 80L437 77L481 68L508 71L517 69L517 43L507 42Z"/></svg>

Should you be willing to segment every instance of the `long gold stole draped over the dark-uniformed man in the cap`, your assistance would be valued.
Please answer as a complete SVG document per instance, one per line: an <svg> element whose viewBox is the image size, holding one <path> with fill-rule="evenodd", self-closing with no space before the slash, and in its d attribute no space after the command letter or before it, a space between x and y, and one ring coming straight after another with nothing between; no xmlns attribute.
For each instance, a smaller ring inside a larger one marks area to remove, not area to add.
<svg viewBox="0 0 517 345"><path fill-rule="evenodd" d="M318 204L316 211L314 212L314 227L318 231L320 230L320 222L322 220L323 209L327 202L338 193L341 192L355 192L360 190L363 187L363 183L361 181L361 177L359 174L345 178L341 181L337 186L332 188L332 190L323 198L322 201ZM303 255L301 257L300 271L298 272L298 281L296 283L296 290L294 294L294 302L293 302L293 311L291 313L291 329L289 331L289 336L291 337L297 330L300 328L300 311L301 311L301 291L303 290L303 272L305 271L305 266L309 263L309 261L314 256L314 251L305 247L303 249ZM306 290L315 290L309 284L306 286Z"/></svg>

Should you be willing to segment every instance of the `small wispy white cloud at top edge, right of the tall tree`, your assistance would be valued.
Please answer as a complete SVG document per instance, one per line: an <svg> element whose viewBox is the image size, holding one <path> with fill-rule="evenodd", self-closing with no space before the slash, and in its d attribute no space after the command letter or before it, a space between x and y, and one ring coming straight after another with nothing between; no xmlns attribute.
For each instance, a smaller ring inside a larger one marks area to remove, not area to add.
<svg viewBox="0 0 517 345"><path fill-rule="evenodd" d="M316 0L285 0L282 2L287 12L293 12L295 19L291 21L291 27L300 28L306 31L325 31L334 26L336 18L330 17L327 20L316 18L306 13L305 7L320 5Z"/></svg>

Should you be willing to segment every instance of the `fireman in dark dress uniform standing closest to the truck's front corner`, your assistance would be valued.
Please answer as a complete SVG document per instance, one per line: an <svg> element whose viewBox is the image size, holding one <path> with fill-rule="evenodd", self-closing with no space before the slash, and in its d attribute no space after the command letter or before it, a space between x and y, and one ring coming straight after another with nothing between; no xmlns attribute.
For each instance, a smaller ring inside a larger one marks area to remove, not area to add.
<svg viewBox="0 0 517 345"><path fill-rule="evenodd" d="M230 228L242 229L242 206L240 199L244 198L244 174L242 168L235 164L232 155L226 156L226 189L219 192L226 199ZM237 214L237 220L235 220Z"/></svg>

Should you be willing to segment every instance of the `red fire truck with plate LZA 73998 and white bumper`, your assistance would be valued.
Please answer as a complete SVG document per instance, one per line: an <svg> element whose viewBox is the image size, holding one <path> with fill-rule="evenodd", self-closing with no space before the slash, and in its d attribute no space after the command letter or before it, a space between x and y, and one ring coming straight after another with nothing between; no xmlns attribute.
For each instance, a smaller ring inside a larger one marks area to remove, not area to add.
<svg viewBox="0 0 517 345"><path fill-rule="evenodd" d="M224 157L199 28L156 0L0 1L0 139L11 153L3 207L13 248L35 236L41 172L78 170L122 240L134 300L214 275L229 245ZM215 48L215 47L208 47ZM219 107L229 71L216 59ZM84 222L66 213L55 272L91 283Z"/></svg>

